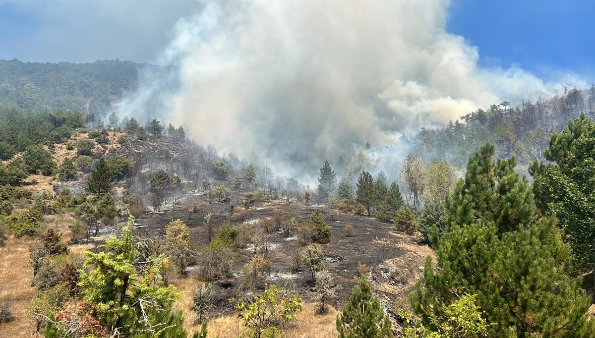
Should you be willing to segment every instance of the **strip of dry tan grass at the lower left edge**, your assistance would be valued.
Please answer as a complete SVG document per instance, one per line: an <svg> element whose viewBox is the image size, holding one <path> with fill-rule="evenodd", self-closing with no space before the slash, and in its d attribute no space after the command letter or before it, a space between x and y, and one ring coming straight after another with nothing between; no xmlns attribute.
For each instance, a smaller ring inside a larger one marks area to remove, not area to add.
<svg viewBox="0 0 595 338"><path fill-rule="evenodd" d="M1 337L30 337L32 325L27 320L27 306L35 289L31 286L33 270L29 267L29 246L32 239L8 240L0 248L0 297L11 301L15 317L10 323L0 324Z"/></svg>

